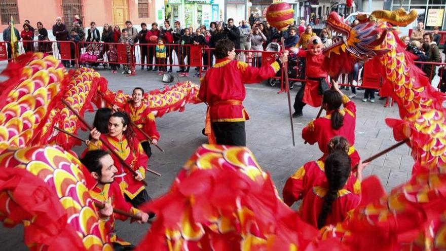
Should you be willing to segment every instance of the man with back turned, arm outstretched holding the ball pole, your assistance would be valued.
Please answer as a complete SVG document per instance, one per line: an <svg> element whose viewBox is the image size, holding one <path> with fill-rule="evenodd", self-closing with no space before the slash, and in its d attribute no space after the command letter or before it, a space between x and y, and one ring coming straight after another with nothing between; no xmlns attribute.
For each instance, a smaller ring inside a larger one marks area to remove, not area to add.
<svg viewBox="0 0 446 251"><path fill-rule="evenodd" d="M243 107L244 83L260 83L274 77L288 54L284 53L270 65L261 68L234 60L234 43L220 40L215 45L216 63L201 79L198 97L208 104L205 134L209 144L246 146L245 121L249 119Z"/></svg>

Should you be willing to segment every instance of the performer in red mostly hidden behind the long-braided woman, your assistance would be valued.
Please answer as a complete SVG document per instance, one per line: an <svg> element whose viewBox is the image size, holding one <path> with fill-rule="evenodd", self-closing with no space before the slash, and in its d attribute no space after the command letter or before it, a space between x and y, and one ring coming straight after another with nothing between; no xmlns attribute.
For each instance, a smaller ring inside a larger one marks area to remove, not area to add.
<svg viewBox="0 0 446 251"><path fill-rule="evenodd" d="M336 150L348 153L349 142L345 137L333 137L327 145L329 153ZM361 193L362 174L358 173L358 177L350 175L348 178L346 189L354 194ZM325 177L325 164L322 160L310 161L301 166L293 175L291 175L285 183L282 191L283 202L291 206L294 202L301 200L314 186L321 186L327 181Z"/></svg>

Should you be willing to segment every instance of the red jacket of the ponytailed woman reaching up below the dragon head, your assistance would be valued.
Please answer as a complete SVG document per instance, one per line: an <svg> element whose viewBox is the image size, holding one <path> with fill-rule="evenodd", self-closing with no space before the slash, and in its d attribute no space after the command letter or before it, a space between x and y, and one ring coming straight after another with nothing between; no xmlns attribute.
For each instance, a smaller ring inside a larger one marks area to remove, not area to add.
<svg viewBox="0 0 446 251"><path fill-rule="evenodd" d="M317 142L319 149L328 154L327 144L334 136L343 136L347 138L350 146L355 144L355 128L356 128L356 105L347 96L343 96L344 109L340 113L344 116L344 122L341 128L334 130L331 127L331 115L317 118L310 122L302 130L302 138L313 145ZM350 155L350 154L349 154Z"/></svg>

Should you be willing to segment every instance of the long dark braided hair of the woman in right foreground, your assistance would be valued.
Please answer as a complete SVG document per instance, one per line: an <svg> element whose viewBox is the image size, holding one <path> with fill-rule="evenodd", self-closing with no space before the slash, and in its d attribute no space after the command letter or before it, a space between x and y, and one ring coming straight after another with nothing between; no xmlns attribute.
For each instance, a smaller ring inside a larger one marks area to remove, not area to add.
<svg viewBox="0 0 446 251"><path fill-rule="evenodd" d="M317 227L325 226L328 214L331 213L331 206L338 198L338 191L347 183L350 176L350 157L342 150L335 150L325 159L325 176L328 182L328 191L324 196L322 209L317 219Z"/></svg>

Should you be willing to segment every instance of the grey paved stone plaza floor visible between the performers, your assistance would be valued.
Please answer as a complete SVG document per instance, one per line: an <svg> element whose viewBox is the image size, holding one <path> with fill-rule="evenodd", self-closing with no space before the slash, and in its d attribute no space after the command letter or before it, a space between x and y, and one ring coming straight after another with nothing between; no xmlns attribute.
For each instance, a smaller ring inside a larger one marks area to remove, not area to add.
<svg viewBox="0 0 446 251"><path fill-rule="evenodd" d="M3 69L5 64L0 64ZM134 87L140 86L145 90L163 88L161 77L156 73L137 70L137 76L126 77L121 74L110 74L109 70L99 69L99 73L108 80L109 88L117 91L123 90L130 93ZM191 71L193 75L193 70ZM230 73L228 73L230 74ZM0 81L3 79L0 79ZM176 79L175 79L176 80ZM180 81L191 80L199 84L198 78L180 78ZM291 98L299 90L296 86L291 90ZM258 163L263 169L272 175L279 193L286 179L298 167L304 163L316 160L322 156L317 145L304 145L301 138L302 128L311 121L319 111L318 108L304 108L304 116L294 119L294 132L296 146L292 146L288 104L285 93L278 94L277 87L263 84L246 85L246 100L244 105L251 117L246 122L247 147L254 153ZM350 94L350 91L345 91ZM376 103L362 102L363 90L357 91L357 97L353 101L357 105L356 142L355 148L360 156L365 159L393 144L392 131L384 119L399 118L397 106L383 107L384 100ZM158 130L161 133L159 146L164 149L161 153L152 148L153 156L149 166L162 174L161 177L148 173L148 193L156 198L166 191L177 175L181 165L194 153L201 144L206 143L207 138L201 134L204 127L206 105L190 104L182 113L173 112L157 119ZM87 114L86 119L90 123L94 114ZM87 138L87 132L80 131L83 138ZM85 146L75 148L79 154ZM401 146L398 149L373 161L365 169L364 176L375 174L387 191L405 182L410 176L413 160L410 149ZM118 236L135 244L145 235L149 225L138 225L127 222L118 222ZM23 228L17 226L14 229L0 227L0 250L26 250L23 242Z"/></svg>

